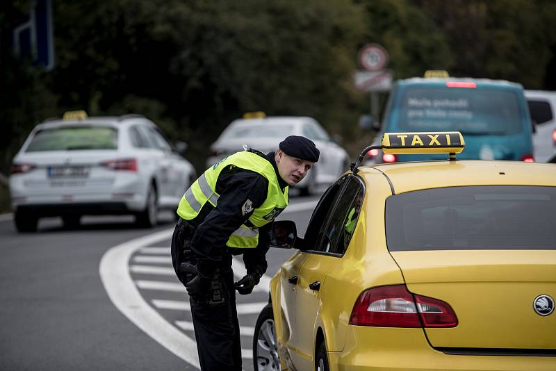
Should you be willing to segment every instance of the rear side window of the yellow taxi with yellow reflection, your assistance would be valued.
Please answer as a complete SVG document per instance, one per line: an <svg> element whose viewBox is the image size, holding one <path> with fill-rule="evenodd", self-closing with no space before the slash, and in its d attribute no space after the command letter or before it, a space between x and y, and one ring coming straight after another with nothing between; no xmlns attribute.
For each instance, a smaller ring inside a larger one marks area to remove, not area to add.
<svg viewBox="0 0 556 371"><path fill-rule="evenodd" d="M323 230L324 251L344 254L353 236L363 204L363 186L355 176L350 176L338 197L332 215Z"/></svg>

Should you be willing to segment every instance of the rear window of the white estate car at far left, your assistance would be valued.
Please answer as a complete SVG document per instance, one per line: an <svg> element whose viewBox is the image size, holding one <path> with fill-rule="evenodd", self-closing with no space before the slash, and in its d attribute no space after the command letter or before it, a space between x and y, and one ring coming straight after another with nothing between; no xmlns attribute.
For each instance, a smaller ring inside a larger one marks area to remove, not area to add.
<svg viewBox="0 0 556 371"><path fill-rule="evenodd" d="M117 130L109 126L63 126L35 133L26 152L117 149Z"/></svg>

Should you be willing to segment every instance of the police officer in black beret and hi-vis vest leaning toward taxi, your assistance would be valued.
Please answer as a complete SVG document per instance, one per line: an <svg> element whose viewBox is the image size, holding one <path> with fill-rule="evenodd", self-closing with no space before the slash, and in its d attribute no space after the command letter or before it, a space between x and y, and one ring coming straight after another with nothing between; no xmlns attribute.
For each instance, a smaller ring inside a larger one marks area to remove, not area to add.
<svg viewBox="0 0 556 371"><path fill-rule="evenodd" d="M271 222L318 156L311 140L291 135L275 152L247 149L215 163L181 198L172 264L189 293L201 370L242 370L235 291L250 294L259 283ZM247 274L234 283L238 254Z"/></svg>

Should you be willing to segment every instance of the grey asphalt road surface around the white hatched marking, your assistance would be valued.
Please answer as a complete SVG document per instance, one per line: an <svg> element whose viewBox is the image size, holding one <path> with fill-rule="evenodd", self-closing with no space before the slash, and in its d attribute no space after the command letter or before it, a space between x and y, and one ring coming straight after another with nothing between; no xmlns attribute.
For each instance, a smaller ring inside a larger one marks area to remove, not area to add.
<svg viewBox="0 0 556 371"><path fill-rule="evenodd" d="M280 219L294 220L302 236L317 200L292 197L291 212ZM147 324L130 320L133 313L152 312L184 344L190 345L188 338L194 341L190 313L182 308L186 292L177 290L177 279L168 274L174 222L171 215L161 217L154 229L136 229L131 217L86 217L75 230L51 218L40 221L38 233L23 234L10 220L1 220L0 370L195 370L195 361L184 356L196 354L194 346L172 352L165 346L168 338L149 333L149 317L142 317ZM149 240L157 232L158 238ZM132 240L141 243L129 250ZM110 265L101 278L101 261L110 263L108 252L118 246L131 252L129 260ZM271 249L267 278L291 254ZM126 299L108 291L120 284L120 275L135 286L120 296L138 292L140 299L119 308L117 303ZM238 296L245 370L252 370L250 333L267 292L260 287Z"/></svg>

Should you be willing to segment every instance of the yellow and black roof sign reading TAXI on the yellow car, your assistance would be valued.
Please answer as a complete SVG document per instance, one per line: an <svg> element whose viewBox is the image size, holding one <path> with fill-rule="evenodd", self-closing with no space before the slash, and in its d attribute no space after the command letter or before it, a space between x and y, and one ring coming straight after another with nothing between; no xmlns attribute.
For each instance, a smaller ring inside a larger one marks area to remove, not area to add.
<svg viewBox="0 0 556 371"><path fill-rule="evenodd" d="M350 169L357 174L359 164L371 149L382 149L384 154L450 154L450 160L455 160L464 148L464 136L459 131L384 133L381 145L363 149Z"/></svg>

